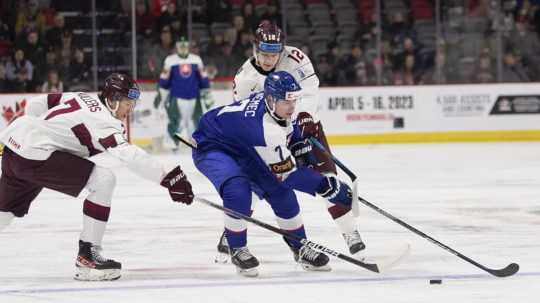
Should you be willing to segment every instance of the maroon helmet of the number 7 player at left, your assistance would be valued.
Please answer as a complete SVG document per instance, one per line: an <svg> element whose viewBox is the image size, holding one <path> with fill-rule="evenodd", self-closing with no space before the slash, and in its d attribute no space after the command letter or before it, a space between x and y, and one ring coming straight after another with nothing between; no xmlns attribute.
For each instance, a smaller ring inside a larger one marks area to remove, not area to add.
<svg viewBox="0 0 540 303"><path fill-rule="evenodd" d="M103 101L120 101L122 98L128 98L135 102L140 95L141 89L135 80L128 75L113 73L105 79L100 97Z"/></svg>

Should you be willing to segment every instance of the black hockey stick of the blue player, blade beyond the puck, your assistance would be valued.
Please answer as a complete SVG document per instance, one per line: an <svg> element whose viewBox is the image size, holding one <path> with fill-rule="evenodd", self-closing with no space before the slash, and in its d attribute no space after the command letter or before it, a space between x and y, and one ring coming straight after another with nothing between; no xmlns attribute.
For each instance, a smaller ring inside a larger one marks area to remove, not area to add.
<svg viewBox="0 0 540 303"><path fill-rule="evenodd" d="M332 154L330 154L325 148L324 146L315 138L310 138L309 139L310 142L315 145L317 148L319 148L321 151L323 151L324 153L326 153L330 158L332 158L332 160L334 160L334 162L336 163L337 166L339 166L351 179L355 179L356 180L356 175L350 171L341 161L339 161L338 159L336 159L336 157L334 157ZM505 268L501 268L501 269L492 269L492 268L489 268L489 267L486 267L476 261L474 261L473 259L463 255L462 253L454 250L453 248L449 247L448 245L446 244L443 244L437 240L435 240L434 238L430 237L429 235L421 232L420 230L416 229L415 227L405 223L404 221L400 220L399 218L396 218L394 217L393 215L391 215L390 213L384 211L383 209L379 208L378 206L370 203L369 201L367 200L364 200L363 198L361 197L358 197L358 201L359 202L362 202L363 204L369 206L370 208L374 209L375 211L377 211L378 213L382 214L383 216L389 218L390 220L396 222L397 224L407 228L408 230L414 232L415 234L421 236L422 238L430 241L431 243L441 247L442 249L448 251L449 253L469 262L470 264L496 276L496 277L508 277L508 276L511 276L513 274L515 274L516 272L519 271L519 264L517 263L511 263L511 264L508 264Z"/></svg>

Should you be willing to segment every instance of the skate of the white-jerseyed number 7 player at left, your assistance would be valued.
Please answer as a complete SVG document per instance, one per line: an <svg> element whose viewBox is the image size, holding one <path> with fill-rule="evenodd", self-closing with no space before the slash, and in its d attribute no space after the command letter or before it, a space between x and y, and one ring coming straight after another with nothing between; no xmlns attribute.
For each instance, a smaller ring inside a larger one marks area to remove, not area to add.
<svg viewBox="0 0 540 303"><path fill-rule="evenodd" d="M79 240L75 280L112 281L120 278L122 264L101 256L101 246Z"/></svg>

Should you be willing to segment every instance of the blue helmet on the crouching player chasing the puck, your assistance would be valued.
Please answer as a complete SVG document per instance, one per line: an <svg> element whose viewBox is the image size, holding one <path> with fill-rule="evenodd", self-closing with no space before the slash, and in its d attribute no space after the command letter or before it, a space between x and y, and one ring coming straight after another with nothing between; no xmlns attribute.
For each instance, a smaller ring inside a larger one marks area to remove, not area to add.
<svg viewBox="0 0 540 303"><path fill-rule="evenodd" d="M300 84L286 71L270 73L264 80L264 95L276 101L298 99L300 91Z"/></svg>

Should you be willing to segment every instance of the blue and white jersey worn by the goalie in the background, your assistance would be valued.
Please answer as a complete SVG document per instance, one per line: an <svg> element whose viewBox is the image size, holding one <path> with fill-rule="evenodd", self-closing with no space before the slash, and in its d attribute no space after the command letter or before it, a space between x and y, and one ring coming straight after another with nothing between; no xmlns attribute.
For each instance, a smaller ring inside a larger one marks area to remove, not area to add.
<svg viewBox="0 0 540 303"><path fill-rule="evenodd" d="M201 57L197 55L189 54L187 58L169 55L163 64L163 69L169 72L167 78L159 79L159 86L170 89L171 96L175 98L198 98L201 89L210 87L203 67Z"/></svg>

